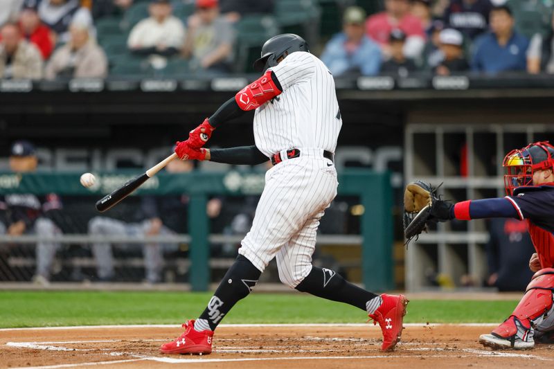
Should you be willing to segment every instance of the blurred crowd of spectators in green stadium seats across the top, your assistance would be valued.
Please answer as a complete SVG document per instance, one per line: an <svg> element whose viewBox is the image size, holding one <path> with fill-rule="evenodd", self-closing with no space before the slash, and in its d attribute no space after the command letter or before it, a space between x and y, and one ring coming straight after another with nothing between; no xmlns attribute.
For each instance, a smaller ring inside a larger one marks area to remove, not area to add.
<svg viewBox="0 0 554 369"><path fill-rule="evenodd" d="M310 1L317 6L318 1ZM370 15L354 0L337 0L345 3L350 6L337 5L342 31L311 45L336 76L554 73L551 0L384 0L379 2L382 11ZM256 35L259 50L260 40L282 32L268 22L278 17L277 9L292 17L295 4L2 0L0 77L105 78L140 75L146 69L177 74L245 71L237 67L238 50ZM316 27L314 18L308 19L308 28L312 23Z"/></svg>

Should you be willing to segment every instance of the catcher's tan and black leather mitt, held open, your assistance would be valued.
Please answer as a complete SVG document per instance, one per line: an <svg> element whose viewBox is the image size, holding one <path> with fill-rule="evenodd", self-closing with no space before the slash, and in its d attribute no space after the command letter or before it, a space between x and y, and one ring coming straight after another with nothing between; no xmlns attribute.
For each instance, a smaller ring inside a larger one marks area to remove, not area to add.
<svg viewBox="0 0 554 369"><path fill-rule="evenodd" d="M452 219L450 208L453 205L438 197L437 188L424 181L414 181L406 186L404 191L404 237L406 237L406 245L413 237L427 231L427 225L430 222L445 222Z"/></svg>

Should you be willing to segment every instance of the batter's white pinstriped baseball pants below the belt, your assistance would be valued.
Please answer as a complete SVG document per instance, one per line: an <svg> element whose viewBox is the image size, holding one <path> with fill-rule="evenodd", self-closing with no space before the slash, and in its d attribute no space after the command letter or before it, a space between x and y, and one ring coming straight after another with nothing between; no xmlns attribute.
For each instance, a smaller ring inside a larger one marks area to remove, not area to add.
<svg viewBox="0 0 554 369"><path fill-rule="evenodd" d="M292 288L312 270L319 219L337 196L339 184L323 150L300 150L301 156L265 174L252 228L238 251L260 271L276 257L281 282Z"/></svg>

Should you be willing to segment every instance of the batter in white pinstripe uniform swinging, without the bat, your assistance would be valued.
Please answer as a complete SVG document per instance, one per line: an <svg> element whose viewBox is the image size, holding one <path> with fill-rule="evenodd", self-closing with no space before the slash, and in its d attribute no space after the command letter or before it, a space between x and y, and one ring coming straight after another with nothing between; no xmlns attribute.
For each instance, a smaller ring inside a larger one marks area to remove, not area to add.
<svg viewBox="0 0 554 369"><path fill-rule="evenodd" d="M312 266L319 219L337 195L333 157L342 125L334 80L310 54L304 39L278 35L262 47L254 67L263 75L239 91L190 132L175 152L181 159L259 164L271 159L265 188L239 255L196 320L161 346L166 354L209 354L213 331L238 300L248 296L270 260L289 287L366 312L383 332L382 350L392 350L402 333L408 301L378 296L347 282L335 271ZM256 145L209 150L203 147L228 120L256 109Z"/></svg>

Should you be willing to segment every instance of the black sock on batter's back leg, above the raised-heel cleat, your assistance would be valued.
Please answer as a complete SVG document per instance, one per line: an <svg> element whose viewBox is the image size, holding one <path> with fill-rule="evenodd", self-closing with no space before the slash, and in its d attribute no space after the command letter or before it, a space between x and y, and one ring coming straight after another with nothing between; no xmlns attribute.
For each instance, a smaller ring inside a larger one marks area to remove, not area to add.
<svg viewBox="0 0 554 369"><path fill-rule="evenodd" d="M304 278L296 289L327 300L339 301L366 311L366 303L377 297L370 291L361 289L345 280L331 269L312 267L310 274Z"/></svg>

